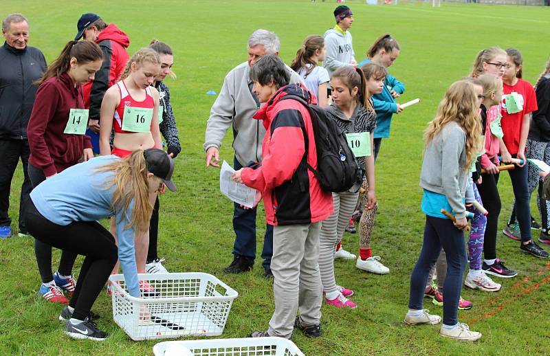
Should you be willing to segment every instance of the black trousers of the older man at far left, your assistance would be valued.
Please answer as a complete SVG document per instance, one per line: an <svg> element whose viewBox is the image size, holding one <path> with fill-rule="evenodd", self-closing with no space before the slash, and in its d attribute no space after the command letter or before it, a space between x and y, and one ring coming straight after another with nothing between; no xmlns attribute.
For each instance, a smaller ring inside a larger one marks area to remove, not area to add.
<svg viewBox="0 0 550 356"><path fill-rule="evenodd" d="M27 234L23 215L29 202L29 194L32 190L28 174L30 148L28 140L0 139L0 226L9 226L12 219L8 215L10 208L10 190L12 178L21 159L23 164L23 184L21 185L21 197L19 198L19 232Z"/></svg>

